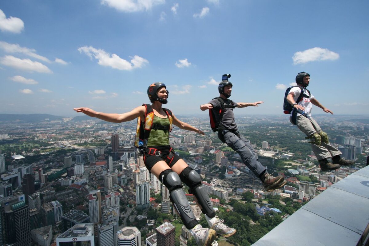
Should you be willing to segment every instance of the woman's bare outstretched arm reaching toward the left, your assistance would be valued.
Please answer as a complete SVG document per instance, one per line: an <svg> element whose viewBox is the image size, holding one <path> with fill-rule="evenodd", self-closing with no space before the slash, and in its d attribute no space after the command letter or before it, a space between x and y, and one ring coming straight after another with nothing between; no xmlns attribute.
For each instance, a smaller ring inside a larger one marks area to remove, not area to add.
<svg viewBox="0 0 369 246"><path fill-rule="evenodd" d="M96 112L92 110L91 108L74 108L74 110L77 113L82 112L88 116L96 117L104 121L109 121L109 122L114 122L114 123L131 121L132 119L135 119L139 116L145 117L145 106L139 106L137 108L134 108L130 112L127 112L124 114L107 114L103 112Z"/></svg>

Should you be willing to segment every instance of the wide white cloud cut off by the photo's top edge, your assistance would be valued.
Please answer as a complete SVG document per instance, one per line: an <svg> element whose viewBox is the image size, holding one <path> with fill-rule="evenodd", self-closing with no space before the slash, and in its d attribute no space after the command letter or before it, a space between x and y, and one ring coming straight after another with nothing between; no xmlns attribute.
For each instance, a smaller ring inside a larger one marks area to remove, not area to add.
<svg viewBox="0 0 369 246"><path fill-rule="evenodd" d="M123 12L148 11L154 5L164 3L165 0L101 0L101 4Z"/></svg>

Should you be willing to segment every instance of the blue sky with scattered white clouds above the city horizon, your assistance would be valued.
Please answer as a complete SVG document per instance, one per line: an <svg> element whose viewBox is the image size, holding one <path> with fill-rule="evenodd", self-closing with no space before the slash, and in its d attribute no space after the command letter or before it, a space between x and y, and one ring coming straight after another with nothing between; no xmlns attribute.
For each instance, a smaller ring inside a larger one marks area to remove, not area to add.
<svg viewBox="0 0 369 246"><path fill-rule="evenodd" d="M163 82L176 115L207 114L230 73L236 114L283 114L298 72L335 114L368 114L369 1L0 1L0 113L123 113ZM324 113L313 108L314 114Z"/></svg>

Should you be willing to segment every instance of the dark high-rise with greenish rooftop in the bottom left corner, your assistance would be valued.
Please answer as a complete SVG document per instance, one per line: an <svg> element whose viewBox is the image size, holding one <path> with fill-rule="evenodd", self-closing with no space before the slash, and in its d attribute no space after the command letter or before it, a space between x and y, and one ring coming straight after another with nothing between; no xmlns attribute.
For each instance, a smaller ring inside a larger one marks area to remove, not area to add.
<svg viewBox="0 0 369 246"><path fill-rule="evenodd" d="M30 208L19 196L8 197L0 206L0 245L28 245L31 242Z"/></svg>

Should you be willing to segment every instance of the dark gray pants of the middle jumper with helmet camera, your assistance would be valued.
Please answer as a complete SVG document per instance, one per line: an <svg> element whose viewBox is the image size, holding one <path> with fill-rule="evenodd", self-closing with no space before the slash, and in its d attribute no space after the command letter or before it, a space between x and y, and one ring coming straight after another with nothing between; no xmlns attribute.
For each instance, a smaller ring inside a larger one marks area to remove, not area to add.
<svg viewBox="0 0 369 246"><path fill-rule="evenodd" d="M227 143L238 155L245 165L259 178L260 174L265 171L265 167L258 161L258 155L252 148L250 142L238 131L221 130L218 137L222 142ZM224 141L222 140L224 139Z"/></svg>

